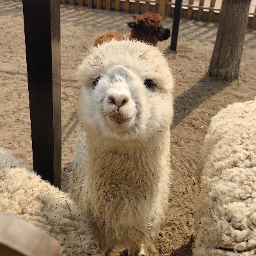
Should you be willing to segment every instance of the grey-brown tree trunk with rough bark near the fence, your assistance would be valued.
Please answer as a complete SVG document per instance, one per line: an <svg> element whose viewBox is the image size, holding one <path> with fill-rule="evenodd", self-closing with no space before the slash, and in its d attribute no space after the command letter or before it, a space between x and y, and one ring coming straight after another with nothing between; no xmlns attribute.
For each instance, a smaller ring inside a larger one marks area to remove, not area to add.
<svg viewBox="0 0 256 256"><path fill-rule="evenodd" d="M238 77L251 0L223 0L209 76L232 81Z"/></svg>

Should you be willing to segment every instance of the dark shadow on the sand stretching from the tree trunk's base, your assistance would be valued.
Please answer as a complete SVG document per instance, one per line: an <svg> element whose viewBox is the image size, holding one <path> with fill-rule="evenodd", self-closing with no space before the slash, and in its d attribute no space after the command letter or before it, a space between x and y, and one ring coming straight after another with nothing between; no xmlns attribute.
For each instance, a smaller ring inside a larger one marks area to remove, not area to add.
<svg viewBox="0 0 256 256"><path fill-rule="evenodd" d="M200 104L221 92L230 82L214 80L207 74L194 86L174 99L174 116L171 129L182 122Z"/></svg>

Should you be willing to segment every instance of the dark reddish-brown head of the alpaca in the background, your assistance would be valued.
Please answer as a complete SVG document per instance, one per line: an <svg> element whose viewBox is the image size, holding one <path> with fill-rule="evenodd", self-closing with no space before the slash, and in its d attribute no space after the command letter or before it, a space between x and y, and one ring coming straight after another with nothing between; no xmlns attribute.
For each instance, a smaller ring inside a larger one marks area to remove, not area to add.
<svg viewBox="0 0 256 256"><path fill-rule="evenodd" d="M170 29L163 28L161 16L157 13L146 12L133 16L133 19L133 22L127 22L132 29L130 38L156 45L158 41L166 40L171 35Z"/></svg>

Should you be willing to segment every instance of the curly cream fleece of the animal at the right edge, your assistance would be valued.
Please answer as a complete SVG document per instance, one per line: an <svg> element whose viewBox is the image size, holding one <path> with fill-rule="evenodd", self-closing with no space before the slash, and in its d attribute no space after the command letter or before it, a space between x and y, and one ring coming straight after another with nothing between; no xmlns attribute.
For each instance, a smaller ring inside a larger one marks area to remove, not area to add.
<svg viewBox="0 0 256 256"><path fill-rule="evenodd" d="M256 255L256 101L212 118L201 168L194 255Z"/></svg>

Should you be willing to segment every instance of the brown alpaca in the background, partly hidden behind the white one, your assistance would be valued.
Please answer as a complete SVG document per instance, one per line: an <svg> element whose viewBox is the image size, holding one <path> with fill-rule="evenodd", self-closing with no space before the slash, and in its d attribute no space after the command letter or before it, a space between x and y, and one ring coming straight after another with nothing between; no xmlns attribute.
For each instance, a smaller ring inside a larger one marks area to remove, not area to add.
<svg viewBox="0 0 256 256"><path fill-rule="evenodd" d="M170 29L163 28L161 16L157 13L146 12L141 15L133 16L132 22L127 22L131 33L129 39L139 40L147 44L156 46L158 41L166 40L170 37ZM113 38L116 40L124 40L122 33L109 31L98 36L95 39L95 45L109 42Z"/></svg>

